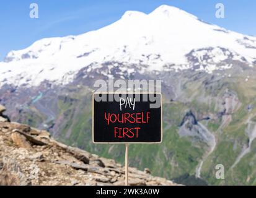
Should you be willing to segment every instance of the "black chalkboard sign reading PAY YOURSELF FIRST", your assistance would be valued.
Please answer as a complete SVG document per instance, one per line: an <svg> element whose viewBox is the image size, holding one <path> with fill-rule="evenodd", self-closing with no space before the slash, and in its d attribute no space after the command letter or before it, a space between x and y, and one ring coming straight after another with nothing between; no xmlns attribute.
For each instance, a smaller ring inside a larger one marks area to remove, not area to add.
<svg viewBox="0 0 256 198"><path fill-rule="evenodd" d="M92 99L94 143L160 143L161 93L95 93Z"/></svg>

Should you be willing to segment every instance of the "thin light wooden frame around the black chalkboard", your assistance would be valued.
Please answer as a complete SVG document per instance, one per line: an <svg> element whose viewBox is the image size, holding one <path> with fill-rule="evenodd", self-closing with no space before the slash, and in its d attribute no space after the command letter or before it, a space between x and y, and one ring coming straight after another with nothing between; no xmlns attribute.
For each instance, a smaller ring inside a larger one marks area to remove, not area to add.
<svg viewBox="0 0 256 198"><path fill-rule="evenodd" d="M160 119L161 119L161 129L160 129L160 140L159 141L155 141L155 142L97 142L95 141L94 139L94 110L95 110L95 106L94 106L94 96L97 95L97 94L127 94L127 95L133 95L133 94L157 94L157 95L160 95L160 98L161 98L161 116L160 116ZM130 93L130 92L120 92L120 93L114 93L114 92L96 92L96 93L93 93L92 94L92 142L94 144L161 144L162 143L162 93L158 93L158 92L143 92L143 93L139 93L139 92L133 92L133 93Z"/></svg>

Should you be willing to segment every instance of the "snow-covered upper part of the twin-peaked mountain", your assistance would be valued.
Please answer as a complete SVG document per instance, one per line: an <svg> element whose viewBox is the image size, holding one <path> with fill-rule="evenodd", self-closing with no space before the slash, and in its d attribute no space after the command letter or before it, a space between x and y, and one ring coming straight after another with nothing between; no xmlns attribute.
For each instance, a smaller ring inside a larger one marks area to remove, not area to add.
<svg viewBox="0 0 256 198"><path fill-rule="evenodd" d="M256 63L256 37L207 24L176 7L160 6L150 14L127 11L117 22L82 35L38 40L11 51L0 62L0 86L37 86L44 80L72 82L76 74L117 62L120 70L203 70L232 67L232 61ZM115 64L113 66L115 66Z"/></svg>

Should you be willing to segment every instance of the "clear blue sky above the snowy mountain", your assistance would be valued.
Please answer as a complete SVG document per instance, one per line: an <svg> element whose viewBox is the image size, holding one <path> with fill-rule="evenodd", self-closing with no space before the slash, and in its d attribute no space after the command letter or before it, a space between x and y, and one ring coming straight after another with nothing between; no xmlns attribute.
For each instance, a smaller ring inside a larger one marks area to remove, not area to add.
<svg viewBox="0 0 256 198"><path fill-rule="evenodd" d="M29 17L33 2L39 7L38 19ZM218 2L225 6L224 19L215 17ZM229 30L256 35L256 1L252 0L1 0L0 61L12 49L26 48L40 38L97 30L120 19L127 10L149 13L162 4Z"/></svg>

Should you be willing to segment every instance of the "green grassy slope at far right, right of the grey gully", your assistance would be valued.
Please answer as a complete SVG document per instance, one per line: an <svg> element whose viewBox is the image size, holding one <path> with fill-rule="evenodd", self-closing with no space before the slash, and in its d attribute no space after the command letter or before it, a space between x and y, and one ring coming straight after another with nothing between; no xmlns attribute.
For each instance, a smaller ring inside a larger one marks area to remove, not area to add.
<svg viewBox="0 0 256 198"><path fill-rule="evenodd" d="M256 84L255 80L244 82L244 78L236 78L229 82L229 88L234 90L241 101L239 110L232 114L232 121L223 130L218 131L218 145L208 160L203 165L203 178L210 184L234 184L234 185L252 185L255 184L256 178L256 161L255 152L245 155L241 161L231 169L231 166L236 161L239 153L242 152L242 147L247 145L248 137L245 134L247 128L247 119L250 115L256 113L253 109L250 113L247 106L251 104L256 106ZM246 91L245 91L246 90ZM252 144L255 148L255 141ZM215 178L215 166L223 164L225 168L225 179L219 180Z"/></svg>

